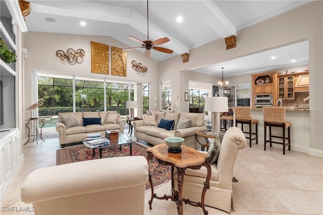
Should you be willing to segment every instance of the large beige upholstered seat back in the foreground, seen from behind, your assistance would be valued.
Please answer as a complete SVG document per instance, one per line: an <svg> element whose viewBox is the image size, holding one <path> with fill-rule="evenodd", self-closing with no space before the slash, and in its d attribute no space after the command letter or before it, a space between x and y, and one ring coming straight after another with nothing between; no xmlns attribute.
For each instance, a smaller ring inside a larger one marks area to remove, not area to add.
<svg viewBox="0 0 323 215"><path fill-rule="evenodd" d="M35 214L144 214L147 181L143 156L87 160L32 172L21 200Z"/></svg>

